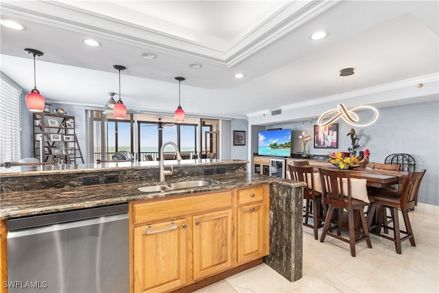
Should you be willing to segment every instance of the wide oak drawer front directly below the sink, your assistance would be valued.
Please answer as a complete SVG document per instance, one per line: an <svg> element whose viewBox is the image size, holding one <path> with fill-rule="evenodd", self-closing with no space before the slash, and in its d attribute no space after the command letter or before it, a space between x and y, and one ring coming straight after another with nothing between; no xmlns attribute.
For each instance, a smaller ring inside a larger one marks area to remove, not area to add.
<svg viewBox="0 0 439 293"><path fill-rule="evenodd" d="M133 204L133 224L177 218L182 215L228 209L232 207L232 191L214 192L191 196L169 196L154 202Z"/></svg>

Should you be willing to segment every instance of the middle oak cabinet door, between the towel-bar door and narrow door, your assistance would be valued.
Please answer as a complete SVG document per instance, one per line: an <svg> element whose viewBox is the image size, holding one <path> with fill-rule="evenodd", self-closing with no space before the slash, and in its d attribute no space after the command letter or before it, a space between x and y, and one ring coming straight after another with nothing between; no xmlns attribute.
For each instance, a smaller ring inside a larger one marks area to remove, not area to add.
<svg viewBox="0 0 439 293"><path fill-rule="evenodd" d="M193 279L201 279L231 267L232 211L216 211L193 217Z"/></svg>

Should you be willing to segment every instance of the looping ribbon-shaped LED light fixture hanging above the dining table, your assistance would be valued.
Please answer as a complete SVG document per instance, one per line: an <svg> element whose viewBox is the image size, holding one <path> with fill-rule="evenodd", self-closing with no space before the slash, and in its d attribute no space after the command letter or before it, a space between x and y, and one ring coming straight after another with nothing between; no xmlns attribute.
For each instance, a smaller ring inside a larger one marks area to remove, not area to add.
<svg viewBox="0 0 439 293"><path fill-rule="evenodd" d="M345 69L340 70L340 76L343 77L343 82L344 82L345 76L349 76L349 75L353 75L353 74L354 74L353 68L345 68ZM343 93L343 83L342 83L342 93ZM342 94L340 94L340 97L341 97L341 95ZM358 123L359 117L358 117L357 113L354 112L355 110L372 110L373 117L367 123L359 124ZM346 108L346 106L344 106L343 103L340 103L337 105L337 110L329 110L329 111L323 113L322 115L320 115L317 123L320 126L327 126L328 124L334 123L340 117L342 117L342 119L347 124L350 124L351 126L358 126L358 127L369 126L370 124L377 121L378 110L372 106L355 106L355 107ZM327 120L324 121L324 119L327 119Z"/></svg>

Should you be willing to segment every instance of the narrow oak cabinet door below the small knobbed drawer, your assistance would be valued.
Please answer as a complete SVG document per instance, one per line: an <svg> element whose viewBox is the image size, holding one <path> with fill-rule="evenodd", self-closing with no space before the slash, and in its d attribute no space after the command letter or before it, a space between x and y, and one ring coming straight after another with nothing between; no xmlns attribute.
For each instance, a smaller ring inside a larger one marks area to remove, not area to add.
<svg viewBox="0 0 439 293"><path fill-rule="evenodd" d="M238 263L268 255L268 215L262 203L238 208Z"/></svg>

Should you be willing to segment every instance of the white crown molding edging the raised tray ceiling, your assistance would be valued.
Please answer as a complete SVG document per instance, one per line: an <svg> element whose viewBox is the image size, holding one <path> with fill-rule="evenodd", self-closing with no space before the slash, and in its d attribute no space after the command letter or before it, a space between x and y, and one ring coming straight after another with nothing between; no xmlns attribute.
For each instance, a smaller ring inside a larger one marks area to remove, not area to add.
<svg viewBox="0 0 439 293"><path fill-rule="evenodd" d="M263 19L259 25L237 40L204 36L200 38L204 43L57 1L1 3L1 10L5 16L14 16L71 32L93 34L99 38L117 40L128 45L161 49L169 54L196 57L213 65L233 67L339 1L292 1L276 10L267 19Z"/></svg>

